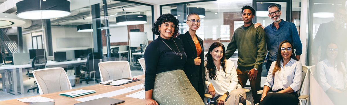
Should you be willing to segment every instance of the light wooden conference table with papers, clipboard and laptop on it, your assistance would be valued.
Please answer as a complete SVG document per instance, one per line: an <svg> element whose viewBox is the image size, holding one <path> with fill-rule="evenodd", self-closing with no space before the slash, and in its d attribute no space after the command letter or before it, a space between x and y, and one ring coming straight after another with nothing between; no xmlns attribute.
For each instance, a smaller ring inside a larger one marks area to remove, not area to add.
<svg viewBox="0 0 347 105"><path fill-rule="evenodd" d="M132 78L140 79L140 78L144 78L144 75L134 76ZM140 83L141 83L141 81L136 81L136 82L124 84L122 86L131 87L131 86L138 85ZM95 90L96 92L93 93L93 94L88 94L88 95L79 96L79 97L75 97L75 98L70 98L70 97L65 97L65 96L60 96L59 95L60 93L63 93L63 92L75 91L75 90L79 90L79 89ZM37 95L37 96L42 96L42 97L47 97L47 98L54 99L55 100L54 101L55 105L73 105L75 103L79 103L79 101L77 101L75 99L88 97L88 96L99 95L99 94L103 94L103 93L106 93L106 92L111 92L111 91L115 91L115 90L119 90L119 89L124 89L124 87L110 87L110 86L104 86L104 85L95 84L95 85L92 85L92 86L87 86L87 87L82 87L82 88L77 88L77 89L71 89L71 90L65 90L65 91L59 91L59 92L53 92L53 93L50 93L50 94ZM138 89L138 90L135 90L135 91L127 92L125 94L113 96L113 97L110 97L110 98L116 98L116 99L125 100L125 103L121 103L121 104L117 104L117 105L144 105L145 104L145 100L144 99L125 97L126 95L133 94L134 92L137 92L137 91L140 91L140 90L141 89ZM31 96L31 97L35 97L35 96ZM25 98L28 98L28 97L25 97ZM29 103L23 103L23 102L20 102L19 100L16 100L16 99L0 101L0 105L28 105L28 104Z"/></svg>

